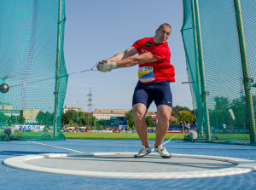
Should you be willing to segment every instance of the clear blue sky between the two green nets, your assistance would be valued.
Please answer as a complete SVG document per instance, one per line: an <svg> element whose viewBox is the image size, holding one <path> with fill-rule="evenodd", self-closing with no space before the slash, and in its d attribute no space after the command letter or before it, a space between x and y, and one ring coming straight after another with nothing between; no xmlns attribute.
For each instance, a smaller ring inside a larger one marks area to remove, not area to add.
<svg viewBox="0 0 256 190"><path fill-rule="evenodd" d="M192 107L186 71L181 28L183 1L181 0L66 0L64 55L67 73L92 68L132 46L143 37L154 37L162 23L172 26L168 39L171 63L175 67L176 82L171 83L173 107ZM112 72L81 72L70 75L64 105L87 106L92 94L91 111L95 109L131 109L137 84L137 67L115 69ZM96 69L96 67L94 67ZM156 112L154 102L149 111Z"/></svg>

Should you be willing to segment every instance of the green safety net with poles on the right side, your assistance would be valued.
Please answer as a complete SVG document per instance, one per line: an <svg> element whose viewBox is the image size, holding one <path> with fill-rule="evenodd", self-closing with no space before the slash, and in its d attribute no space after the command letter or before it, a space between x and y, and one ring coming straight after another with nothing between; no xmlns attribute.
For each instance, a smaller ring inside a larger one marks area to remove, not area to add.
<svg viewBox="0 0 256 190"><path fill-rule="evenodd" d="M255 16L255 1L183 0L181 32L202 140L256 144Z"/></svg>

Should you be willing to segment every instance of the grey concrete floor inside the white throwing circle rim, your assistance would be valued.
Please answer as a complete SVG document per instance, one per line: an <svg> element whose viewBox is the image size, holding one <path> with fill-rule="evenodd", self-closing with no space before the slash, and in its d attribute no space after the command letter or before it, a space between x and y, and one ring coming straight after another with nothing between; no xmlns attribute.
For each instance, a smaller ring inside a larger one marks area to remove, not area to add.
<svg viewBox="0 0 256 190"><path fill-rule="evenodd" d="M218 170L233 167L234 164L196 158L163 159L148 155L145 158L129 156L79 156L61 158L32 159L26 162L40 167L64 170L88 170L98 172L186 172L201 170Z"/></svg>

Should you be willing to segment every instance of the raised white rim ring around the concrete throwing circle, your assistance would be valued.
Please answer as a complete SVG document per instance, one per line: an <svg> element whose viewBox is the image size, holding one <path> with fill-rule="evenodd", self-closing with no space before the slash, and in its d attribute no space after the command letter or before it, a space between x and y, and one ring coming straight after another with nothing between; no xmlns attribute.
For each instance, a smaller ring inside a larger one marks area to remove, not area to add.
<svg viewBox="0 0 256 190"><path fill-rule="evenodd" d="M236 166L218 170L201 170L188 172L105 172L105 171L87 171L87 170L62 170L55 168L39 167L31 164L26 164L26 161L40 158L61 158L71 156L132 156L136 153L49 153L40 155L27 155L20 157L7 158L3 164L21 170L36 170L55 174L73 175L73 176L92 176L92 177L110 177L110 178L133 178L133 179L177 179L177 178L200 178L213 176L231 176L237 174L248 173L256 170L256 161L241 159L241 158L227 158L216 156L190 155L190 154L172 154L172 157L177 158L198 158L217 160L235 164ZM152 156L159 156L158 153L151 153Z"/></svg>

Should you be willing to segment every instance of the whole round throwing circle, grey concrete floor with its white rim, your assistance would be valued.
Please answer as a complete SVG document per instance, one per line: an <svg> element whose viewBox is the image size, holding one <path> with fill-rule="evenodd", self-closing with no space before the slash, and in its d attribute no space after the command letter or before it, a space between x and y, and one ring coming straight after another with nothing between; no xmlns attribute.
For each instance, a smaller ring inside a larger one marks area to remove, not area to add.
<svg viewBox="0 0 256 190"><path fill-rule="evenodd" d="M230 176L256 170L256 161L241 158L189 154L161 158L158 153L134 158L134 154L137 153L49 153L7 158L3 164L55 174L131 179Z"/></svg>

